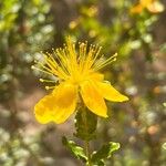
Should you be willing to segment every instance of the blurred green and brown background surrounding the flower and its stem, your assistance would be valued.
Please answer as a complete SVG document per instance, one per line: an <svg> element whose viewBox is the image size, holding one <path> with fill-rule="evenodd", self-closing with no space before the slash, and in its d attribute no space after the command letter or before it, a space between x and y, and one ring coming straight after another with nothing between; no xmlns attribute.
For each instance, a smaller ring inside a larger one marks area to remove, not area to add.
<svg viewBox="0 0 166 166"><path fill-rule="evenodd" d="M98 121L91 148L121 143L107 166L166 166L166 11L157 12L166 1L132 12L138 2L0 0L0 166L82 165L61 143L73 138L73 117L41 125L33 115L49 92L31 65L66 35L102 45L106 56L117 52L103 72L131 98L107 103L110 118Z"/></svg>

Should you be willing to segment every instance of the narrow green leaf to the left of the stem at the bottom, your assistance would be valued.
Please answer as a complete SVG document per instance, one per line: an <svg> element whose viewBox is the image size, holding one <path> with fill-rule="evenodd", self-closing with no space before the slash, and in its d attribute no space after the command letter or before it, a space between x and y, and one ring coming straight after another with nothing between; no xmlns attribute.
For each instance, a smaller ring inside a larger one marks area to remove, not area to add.
<svg viewBox="0 0 166 166"><path fill-rule="evenodd" d="M68 141L65 136L62 137L62 143L63 145L70 149L70 152L72 153L72 155L74 157L76 157L77 159L81 159L83 162L87 160L86 155L84 154L84 151L82 147L80 147L79 145L76 145L73 141Z"/></svg>

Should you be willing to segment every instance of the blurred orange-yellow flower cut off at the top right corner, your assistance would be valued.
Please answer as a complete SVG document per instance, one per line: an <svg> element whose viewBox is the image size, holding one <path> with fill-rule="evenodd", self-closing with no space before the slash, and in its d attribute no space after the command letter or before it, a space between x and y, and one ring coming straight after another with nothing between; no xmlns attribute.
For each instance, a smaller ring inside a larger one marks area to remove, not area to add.
<svg viewBox="0 0 166 166"><path fill-rule="evenodd" d="M157 13L164 11L164 6L158 0L139 0L139 3L131 9L132 13L141 13L144 9Z"/></svg>

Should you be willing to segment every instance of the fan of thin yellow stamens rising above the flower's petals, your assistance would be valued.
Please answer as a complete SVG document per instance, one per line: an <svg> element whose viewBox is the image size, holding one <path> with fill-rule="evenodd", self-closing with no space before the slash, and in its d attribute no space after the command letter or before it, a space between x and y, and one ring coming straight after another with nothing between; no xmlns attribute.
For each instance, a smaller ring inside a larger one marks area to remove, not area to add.
<svg viewBox="0 0 166 166"><path fill-rule="evenodd" d="M87 41L85 41L79 43L76 52L75 43L68 38L63 48L52 49L52 53L42 53L42 61L34 61L37 64L32 69L55 76L53 81L40 79L40 82L54 83L51 85L55 85L58 81L68 81L69 79L83 80L90 71L97 71L116 61L117 53L106 60L101 55L101 49L102 46L94 44L87 48ZM45 86L46 90L54 87Z"/></svg>

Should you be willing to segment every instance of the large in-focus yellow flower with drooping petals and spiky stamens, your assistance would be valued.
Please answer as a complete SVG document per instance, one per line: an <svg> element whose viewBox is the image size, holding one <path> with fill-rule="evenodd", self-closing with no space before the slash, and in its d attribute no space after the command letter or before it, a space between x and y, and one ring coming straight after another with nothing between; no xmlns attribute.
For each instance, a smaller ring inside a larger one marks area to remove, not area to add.
<svg viewBox="0 0 166 166"><path fill-rule="evenodd" d="M53 51L54 58L53 54L46 53L43 54L43 62L37 62L38 66L33 68L55 76L59 82L52 93L41 98L34 106L34 114L40 123L65 122L76 110L81 98L91 112L103 117L107 117L104 98L114 102L128 100L105 82L104 75L98 72L100 69L115 61L116 54L104 60L100 51L101 48L95 45L87 49L85 42L79 43L76 52L75 43L68 38L63 49ZM51 82L42 79L40 81Z"/></svg>

